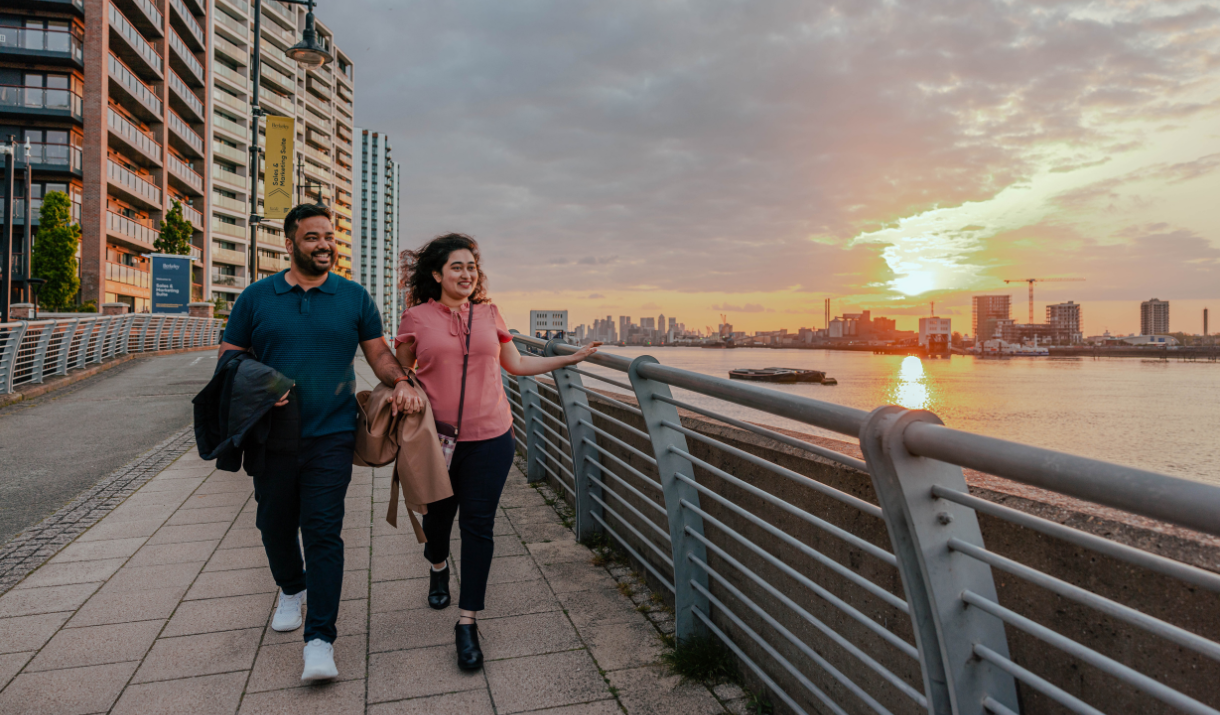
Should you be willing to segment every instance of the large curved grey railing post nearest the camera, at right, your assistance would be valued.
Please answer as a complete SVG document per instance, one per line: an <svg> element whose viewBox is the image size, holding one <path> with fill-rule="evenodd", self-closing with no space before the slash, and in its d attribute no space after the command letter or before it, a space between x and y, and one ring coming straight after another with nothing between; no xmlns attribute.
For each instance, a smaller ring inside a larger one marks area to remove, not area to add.
<svg viewBox="0 0 1220 715"><path fill-rule="evenodd" d="M991 567L948 545L958 538L982 547L978 519L932 494L933 486L967 493L965 476L959 466L906 451L903 432L913 422L942 425L926 410L877 408L860 429L860 448L910 604L928 713L983 715L987 697L1019 711L1013 676L974 653L977 643L1006 658L1004 625L961 600L965 589L998 600Z"/></svg>

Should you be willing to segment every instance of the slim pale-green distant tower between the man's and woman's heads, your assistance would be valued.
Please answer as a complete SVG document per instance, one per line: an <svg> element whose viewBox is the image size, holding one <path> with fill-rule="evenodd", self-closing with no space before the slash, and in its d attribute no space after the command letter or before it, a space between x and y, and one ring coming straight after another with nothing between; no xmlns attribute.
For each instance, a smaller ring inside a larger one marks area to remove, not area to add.
<svg viewBox="0 0 1220 715"><path fill-rule="evenodd" d="M398 214L400 165L392 157L386 134L357 127L356 137L360 144L355 166L360 215L353 232L356 277L381 311L386 334L392 336L398 332L404 307L398 289L403 240Z"/></svg>

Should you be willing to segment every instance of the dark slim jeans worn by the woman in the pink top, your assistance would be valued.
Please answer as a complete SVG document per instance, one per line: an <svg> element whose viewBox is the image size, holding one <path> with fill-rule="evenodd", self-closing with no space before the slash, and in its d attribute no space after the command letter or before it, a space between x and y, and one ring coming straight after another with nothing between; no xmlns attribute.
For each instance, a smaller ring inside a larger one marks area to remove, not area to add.
<svg viewBox="0 0 1220 715"><path fill-rule="evenodd" d="M516 445L512 429L494 439L459 442L449 467L449 481L454 495L428 504L423 515L423 556L429 564L439 564L449 558L449 534L454 515L459 511L461 530L461 598L458 608L467 611L483 610L487 593L487 573L492 570L492 553L495 543L495 510L500 505L500 492L512 467Z"/></svg>

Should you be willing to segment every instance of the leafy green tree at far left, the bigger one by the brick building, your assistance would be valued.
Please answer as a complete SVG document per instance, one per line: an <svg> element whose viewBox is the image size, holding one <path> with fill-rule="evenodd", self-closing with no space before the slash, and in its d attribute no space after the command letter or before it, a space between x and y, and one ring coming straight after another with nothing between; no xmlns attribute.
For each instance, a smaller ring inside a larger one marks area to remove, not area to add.
<svg viewBox="0 0 1220 715"><path fill-rule="evenodd" d="M34 240L34 277L46 283L38 292L38 303L46 310L68 307L78 290L81 276L76 254L81 245L81 226L72 223L72 200L63 192L43 196Z"/></svg>

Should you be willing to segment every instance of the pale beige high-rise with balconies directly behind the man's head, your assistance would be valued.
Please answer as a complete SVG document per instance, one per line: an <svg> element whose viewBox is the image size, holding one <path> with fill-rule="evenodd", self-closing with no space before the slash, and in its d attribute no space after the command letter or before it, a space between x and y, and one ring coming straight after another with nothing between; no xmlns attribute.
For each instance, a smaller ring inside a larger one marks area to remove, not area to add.
<svg viewBox="0 0 1220 715"><path fill-rule="evenodd" d="M177 1L177 0L171 0ZM251 279L288 267L283 225L257 226L257 275L249 275L250 192L257 192L262 214L262 171L249 176L251 54L254 9L244 0L215 0L212 67L207 83L211 99L209 159L211 181L209 299L228 305ZM284 50L296 44L305 27L305 9L264 0L257 38L261 54L259 106L267 113L293 117L296 123L296 201L321 201L334 211L338 256L334 271L353 277L353 65L334 46L333 33L317 21L317 38L334 56L318 68L305 70ZM260 146L266 146L266 120L259 121Z"/></svg>

